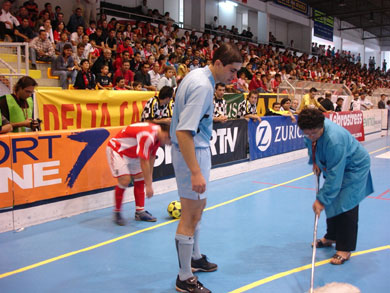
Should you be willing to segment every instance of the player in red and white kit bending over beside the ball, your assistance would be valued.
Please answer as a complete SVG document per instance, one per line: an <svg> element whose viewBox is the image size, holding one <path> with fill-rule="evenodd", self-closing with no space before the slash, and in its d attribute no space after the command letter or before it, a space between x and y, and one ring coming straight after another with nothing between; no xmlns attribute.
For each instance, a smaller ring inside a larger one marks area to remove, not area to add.
<svg viewBox="0 0 390 293"><path fill-rule="evenodd" d="M118 179L115 187L114 222L125 225L121 216L123 193L133 178L135 220L155 222L157 219L145 211L145 188L148 198L153 196L153 165L161 145L169 144L169 126L135 123L111 138L107 146L107 160L112 176Z"/></svg>

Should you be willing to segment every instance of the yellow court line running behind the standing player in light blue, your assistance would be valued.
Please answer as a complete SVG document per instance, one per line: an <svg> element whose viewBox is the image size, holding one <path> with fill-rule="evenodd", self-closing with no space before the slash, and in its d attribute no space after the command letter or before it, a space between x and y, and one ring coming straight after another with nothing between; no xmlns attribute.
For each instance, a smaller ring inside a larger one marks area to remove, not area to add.
<svg viewBox="0 0 390 293"><path fill-rule="evenodd" d="M386 149L386 148L389 148L389 147L381 148L381 149L379 149L379 150L376 150L376 151L371 152L370 154L375 153L375 152L379 152L379 151L381 151L381 150L383 150L383 149ZM248 194L244 194L244 195L239 196L239 197L237 197L237 198L234 198L234 199L231 199L231 200L222 202L222 203L220 203L220 204L216 204L216 205L214 205L214 206L212 206L212 207L206 208L204 211L209 211L209 210L212 210L212 209L216 209L216 208L218 208L218 207L221 207L221 206L224 206L224 205L233 203L233 202L235 202L235 201L244 199L244 198L246 198L246 197L255 195L255 194L257 194L257 193L260 193L260 192L263 192L263 191L267 191L267 190L270 190L270 189L273 189L273 188L276 188L276 187L279 187L279 186L282 186L282 185L286 185L286 184L291 183L291 182L294 182L294 181L301 180L301 179L306 178L306 177L311 176L311 175L313 175L313 173L309 173L309 174L303 175L303 176L301 176L301 177L297 177L297 178L295 178L295 179L292 179L292 180L289 180L289 181L286 181L286 182L283 182L283 183L280 183L280 184L277 184L277 185L273 185L273 186L270 186L270 187L267 187L267 188L259 189L259 190L257 190L257 191L254 191L254 192L251 192L251 193L248 193ZM166 225L171 224L171 223L176 222L176 221L178 221L178 220L166 221L166 222L164 222L164 223L157 224L157 225L151 226L151 227L149 227L149 228L141 229L141 230L138 230L138 231L135 231L135 232L132 232L132 233L128 233L128 234L122 235L122 236L120 236L120 237L113 238L113 239L111 239L111 240L107 240L107 241L98 243L98 244L96 244L96 245L92 245L92 246L88 246L88 247L83 248L83 249L71 251L71 252L68 252L68 253L65 253L65 254L62 254L62 255L53 257L53 258L49 258L49 259L44 260L44 261L37 262L37 263L35 263L35 264L29 265L29 266L26 266L26 267L22 267L22 268L20 268L20 269L16 269L16 270L13 270L13 271L10 271L10 272L7 272L7 273L3 273L3 274L0 274L0 279L9 277L9 276L12 276L12 275L15 275L15 274L19 274L19 273L22 273L22 272L25 272L25 271L28 271L28 270L31 270L31 269L34 269L34 268L37 268L37 267L40 267L40 266L43 266L43 265L52 263L52 262L55 262L55 261L57 261L57 260L61 260L61 259L64 259L64 258L73 256L73 255L76 255L76 254L79 254L79 253L82 253L82 252L90 251L90 250L93 250L93 249L96 249L96 248L99 248L99 247L102 247L102 246L105 246L105 245L108 245L108 244L117 242L117 241L119 241L119 240L123 240L123 239L129 238L129 237L132 237L132 236L141 234L141 233L143 233L143 232L147 232L147 231L150 231L150 230L154 230L154 229L157 229L157 228L166 226Z"/></svg>

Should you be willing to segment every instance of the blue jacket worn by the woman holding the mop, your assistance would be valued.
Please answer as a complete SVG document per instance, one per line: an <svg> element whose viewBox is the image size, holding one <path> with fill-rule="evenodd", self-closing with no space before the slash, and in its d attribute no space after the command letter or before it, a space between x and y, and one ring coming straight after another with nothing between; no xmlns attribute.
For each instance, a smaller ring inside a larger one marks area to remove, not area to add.
<svg viewBox="0 0 390 293"><path fill-rule="evenodd" d="M305 138L305 144L312 164L311 141ZM317 140L316 164L325 178L317 199L325 206L328 218L353 209L374 192L370 155L346 129L328 119Z"/></svg>

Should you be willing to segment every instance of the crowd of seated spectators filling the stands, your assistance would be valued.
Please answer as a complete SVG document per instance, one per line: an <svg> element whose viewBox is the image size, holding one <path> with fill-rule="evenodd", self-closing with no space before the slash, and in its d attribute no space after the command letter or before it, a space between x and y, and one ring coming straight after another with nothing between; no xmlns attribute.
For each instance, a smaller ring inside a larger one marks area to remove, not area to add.
<svg viewBox="0 0 390 293"><path fill-rule="evenodd" d="M59 76L62 88L125 89L156 91L163 86L176 87L185 75L210 64L215 50L224 42L236 43L244 59L237 79L226 85L227 92L276 92L284 80L305 80L345 84L353 94L371 95L376 88L390 86L390 71L361 63L360 55L313 44L312 55L255 44L240 38L237 28L227 39L217 17L203 34L181 30L170 18L149 9L147 1L140 13L157 23L109 21L105 14L86 23L83 9L75 7L67 24L60 6L46 3L38 9L34 0L10 12L12 3L2 5L0 38L30 43L31 66L37 61L50 62L52 74ZM248 30L245 36L251 37ZM384 62L385 63L385 62ZM384 64L385 65L385 64ZM123 85L122 85L123 84ZM118 86L119 85L119 86Z"/></svg>

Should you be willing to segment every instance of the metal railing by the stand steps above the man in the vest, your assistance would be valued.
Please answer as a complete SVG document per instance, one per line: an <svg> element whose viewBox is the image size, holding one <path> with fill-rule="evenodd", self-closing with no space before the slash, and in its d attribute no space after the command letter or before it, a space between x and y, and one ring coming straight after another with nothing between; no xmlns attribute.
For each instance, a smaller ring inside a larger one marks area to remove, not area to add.
<svg viewBox="0 0 390 293"><path fill-rule="evenodd" d="M0 76L9 77L9 88L12 91L13 88L13 77L16 76L26 76L29 73L29 47L28 43L0 43L0 48L16 48L16 69L10 65L8 62L0 58L0 63L4 65L9 73L0 72ZM22 47L24 47L24 58L25 58L25 73L22 73Z"/></svg>

